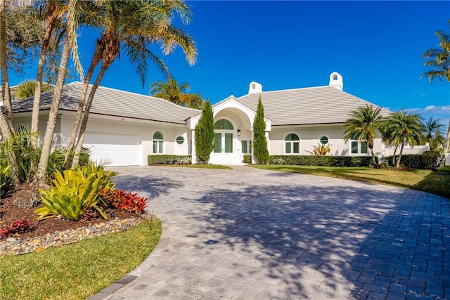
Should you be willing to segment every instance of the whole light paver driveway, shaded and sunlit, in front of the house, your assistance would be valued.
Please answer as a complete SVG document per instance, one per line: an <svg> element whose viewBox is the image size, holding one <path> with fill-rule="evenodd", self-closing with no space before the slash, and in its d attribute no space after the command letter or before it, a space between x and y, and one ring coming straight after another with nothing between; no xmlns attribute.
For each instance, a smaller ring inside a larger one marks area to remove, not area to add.
<svg viewBox="0 0 450 300"><path fill-rule="evenodd" d="M108 299L450 299L442 197L250 167L115 169L164 227Z"/></svg>

